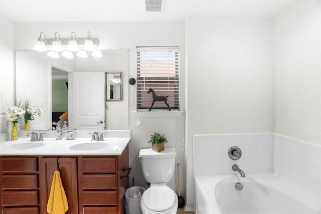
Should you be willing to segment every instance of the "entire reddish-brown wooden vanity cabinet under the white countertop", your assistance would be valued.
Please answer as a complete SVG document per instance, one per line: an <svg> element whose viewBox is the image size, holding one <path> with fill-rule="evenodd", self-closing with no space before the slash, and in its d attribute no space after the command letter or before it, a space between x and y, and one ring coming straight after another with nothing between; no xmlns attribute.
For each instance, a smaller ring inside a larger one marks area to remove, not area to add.
<svg viewBox="0 0 321 214"><path fill-rule="evenodd" d="M128 146L121 155L60 156L66 213L125 213L128 167ZM55 170L57 156L0 156L0 213L46 214Z"/></svg>

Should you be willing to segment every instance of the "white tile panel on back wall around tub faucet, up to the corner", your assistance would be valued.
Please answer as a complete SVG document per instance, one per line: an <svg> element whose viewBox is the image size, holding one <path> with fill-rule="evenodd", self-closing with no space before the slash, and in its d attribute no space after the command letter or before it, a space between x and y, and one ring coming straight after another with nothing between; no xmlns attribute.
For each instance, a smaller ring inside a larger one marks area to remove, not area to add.
<svg viewBox="0 0 321 214"><path fill-rule="evenodd" d="M238 164L246 173L272 171L271 133L198 134L193 135L194 175L233 174L232 165ZM231 160L231 146L242 149L239 160Z"/></svg>

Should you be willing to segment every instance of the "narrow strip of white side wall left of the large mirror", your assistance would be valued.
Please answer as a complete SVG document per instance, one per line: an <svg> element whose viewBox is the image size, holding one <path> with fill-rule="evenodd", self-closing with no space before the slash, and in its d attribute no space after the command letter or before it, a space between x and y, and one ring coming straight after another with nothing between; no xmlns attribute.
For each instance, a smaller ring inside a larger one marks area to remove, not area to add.
<svg viewBox="0 0 321 214"><path fill-rule="evenodd" d="M1 16L0 29L0 111L3 111L8 107L7 102L14 102L14 23ZM0 133L6 131L7 120L0 117Z"/></svg>

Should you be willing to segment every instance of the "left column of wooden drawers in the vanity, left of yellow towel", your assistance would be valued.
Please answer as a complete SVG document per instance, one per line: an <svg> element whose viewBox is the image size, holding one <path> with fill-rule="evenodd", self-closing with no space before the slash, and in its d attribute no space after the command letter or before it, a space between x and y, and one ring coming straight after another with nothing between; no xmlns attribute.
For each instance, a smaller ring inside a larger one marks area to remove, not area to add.
<svg viewBox="0 0 321 214"><path fill-rule="evenodd" d="M1 157L2 214L39 213L38 157Z"/></svg>

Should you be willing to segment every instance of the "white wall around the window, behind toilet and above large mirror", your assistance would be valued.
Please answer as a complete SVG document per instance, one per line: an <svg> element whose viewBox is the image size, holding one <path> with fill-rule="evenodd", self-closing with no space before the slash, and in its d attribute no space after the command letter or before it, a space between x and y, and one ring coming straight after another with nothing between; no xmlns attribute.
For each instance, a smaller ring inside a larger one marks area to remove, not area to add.
<svg viewBox="0 0 321 214"><path fill-rule="evenodd" d="M180 70L181 80L185 79L185 34L184 23L134 23L134 22L50 22L50 23L16 23L15 42L16 49L31 50L40 32L45 32L47 38L52 38L55 32L59 32L61 38L69 38L71 32L75 32L78 38L87 36L90 31L92 37L100 40L101 49L129 49L129 75L136 78L136 46L179 46L180 47ZM169 33L171 32L171 33ZM123 79L126 85L128 79ZM128 85L127 85L128 86ZM179 117L144 117L141 126L137 127L136 118L131 114L135 111L136 91L135 86L128 86L129 121L131 129L131 153L138 156L140 148L151 147L147 144L150 134L161 132L166 135L168 147L177 150L177 161L181 163L182 195L185 195L185 164L184 164L184 114ZM181 82L181 110L185 110L185 84ZM127 112L128 113L128 112ZM137 158L129 157L130 166L133 168L129 179L132 185L146 187L142 177L140 164ZM177 190L176 176L170 182L170 187Z"/></svg>

